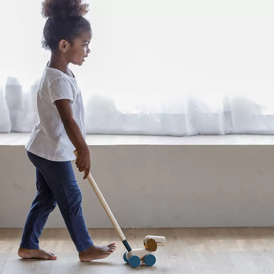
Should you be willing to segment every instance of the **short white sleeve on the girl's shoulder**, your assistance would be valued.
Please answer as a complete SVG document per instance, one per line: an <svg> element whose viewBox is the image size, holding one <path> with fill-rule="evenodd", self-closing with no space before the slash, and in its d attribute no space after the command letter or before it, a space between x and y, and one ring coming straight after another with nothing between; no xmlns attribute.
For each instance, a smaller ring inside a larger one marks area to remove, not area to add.
<svg viewBox="0 0 274 274"><path fill-rule="evenodd" d="M73 103L73 92L71 83L67 79L57 78L49 86L49 96L52 104L61 99L68 99Z"/></svg>

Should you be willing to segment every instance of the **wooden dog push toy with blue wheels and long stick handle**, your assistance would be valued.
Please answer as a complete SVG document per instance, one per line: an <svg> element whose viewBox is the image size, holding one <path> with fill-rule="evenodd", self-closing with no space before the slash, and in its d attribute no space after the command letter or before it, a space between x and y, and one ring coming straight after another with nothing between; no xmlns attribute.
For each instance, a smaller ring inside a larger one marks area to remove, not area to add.
<svg viewBox="0 0 274 274"><path fill-rule="evenodd" d="M77 151L74 151L74 154L77 156ZM132 267L137 267L140 265L141 261L144 262L147 266L152 266L156 262L156 257L154 256L154 252L157 247L163 247L166 244L166 238L163 236L146 236L144 238L144 248L135 248L132 249L128 244L128 241L125 238L120 226L118 225L114 215L112 214L109 206L107 205L104 196L102 195L100 189L95 183L91 174L87 177L90 185L92 186L95 194L97 195L100 203L102 204L107 216L109 217L114 229L118 233L122 243L124 244L127 252L124 253L124 261L128 263Z"/></svg>

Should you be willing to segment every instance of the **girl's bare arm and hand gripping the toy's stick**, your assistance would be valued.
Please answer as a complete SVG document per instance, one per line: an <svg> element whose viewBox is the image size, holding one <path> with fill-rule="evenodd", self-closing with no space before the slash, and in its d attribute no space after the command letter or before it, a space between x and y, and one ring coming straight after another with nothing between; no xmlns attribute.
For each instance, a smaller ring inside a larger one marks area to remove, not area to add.
<svg viewBox="0 0 274 274"><path fill-rule="evenodd" d="M73 118L70 100L56 100L55 106L57 107L60 118L64 124L68 138L77 150L78 155L76 157L76 166L81 172L85 170L84 179L86 179L90 172L90 149L78 124Z"/></svg>

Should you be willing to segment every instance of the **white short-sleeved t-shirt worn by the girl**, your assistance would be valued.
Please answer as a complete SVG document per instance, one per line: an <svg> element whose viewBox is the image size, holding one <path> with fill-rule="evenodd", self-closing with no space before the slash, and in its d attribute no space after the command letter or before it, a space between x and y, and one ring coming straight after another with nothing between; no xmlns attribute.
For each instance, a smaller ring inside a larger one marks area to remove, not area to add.
<svg viewBox="0 0 274 274"><path fill-rule="evenodd" d="M37 93L38 124L33 129L26 149L51 161L72 161L75 147L69 140L54 101L69 99L74 119L86 138L84 104L75 77L55 68L44 69Z"/></svg>

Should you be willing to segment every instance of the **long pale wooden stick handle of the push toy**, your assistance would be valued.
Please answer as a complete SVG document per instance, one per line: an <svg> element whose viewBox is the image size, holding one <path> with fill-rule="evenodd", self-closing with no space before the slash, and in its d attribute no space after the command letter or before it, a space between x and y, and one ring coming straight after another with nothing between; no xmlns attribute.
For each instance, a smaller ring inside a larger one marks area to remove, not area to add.
<svg viewBox="0 0 274 274"><path fill-rule="evenodd" d="M76 150L74 151L74 154L75 154L75 156L77 157L77 151L76 151ZM121 241L125 241L125 240L126 240L125 235L124 235L124 233L122 232L120 226L118 225L116 219L114 218L114 215L112 214L112 212L111 212L109 206L107 205L107 202L106 202L106 200L105 200L103 194L101 193L100 189L98 188L96 182L94 181L92 175L89 174L88 177L87 177L87 179L88 179L88 181L90 182L90 185L92 186L92 188L93 188L95 194L97 195L97 197L98 197L100 203L102 204L102 206L103 206L105 212L107 213L107 216L108 216L108 218L110 219L112 225L114 226L115 230L117 231L117 233L118 233L118 235L119 235Z"/></svg>

